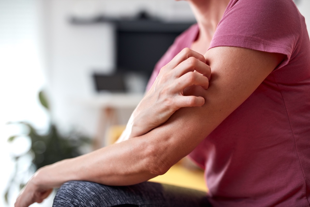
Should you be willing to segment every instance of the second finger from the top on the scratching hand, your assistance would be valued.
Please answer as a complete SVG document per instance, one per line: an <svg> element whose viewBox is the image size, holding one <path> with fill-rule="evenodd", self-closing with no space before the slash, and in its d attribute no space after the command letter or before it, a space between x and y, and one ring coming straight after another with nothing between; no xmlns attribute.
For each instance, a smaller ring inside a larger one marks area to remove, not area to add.
<svg viewBox="0 0 310 207"><path fill-rule="evenodd" d="M208 79L210 79L211 75L211 68L209 65L207 65L204 62L201 62L200 60L197 60L194 57L189 57L185 61L181 62L178 66L173 69L174 76L175 77L181 77L182 75L196 70L198 73L206 76Z"/></svg>

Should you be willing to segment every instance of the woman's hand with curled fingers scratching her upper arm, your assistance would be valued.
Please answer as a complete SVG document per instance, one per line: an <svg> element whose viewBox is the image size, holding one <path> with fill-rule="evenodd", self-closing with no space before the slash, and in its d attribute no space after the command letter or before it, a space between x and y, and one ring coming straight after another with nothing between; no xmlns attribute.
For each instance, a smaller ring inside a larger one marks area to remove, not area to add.
<svg viewBox="0 0 310 207"><path fill-rule="evenodd" d="M193 85L207 89L211 69L203 55L184 48L161 68L153 86L140 101L118 141L141 136L165 123L179 108L202 106L203 97L184 96Z"/></svg>

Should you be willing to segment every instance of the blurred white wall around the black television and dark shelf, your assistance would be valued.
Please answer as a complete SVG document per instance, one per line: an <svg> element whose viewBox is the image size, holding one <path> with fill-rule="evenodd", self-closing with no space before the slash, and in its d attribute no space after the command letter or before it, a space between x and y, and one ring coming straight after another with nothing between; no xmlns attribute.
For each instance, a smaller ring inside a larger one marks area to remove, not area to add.
<svg viewBox="0 0 310 207"><path fill-rule="evenodd" d="M95 134L99 108L85 104L95 96L91 73L95 69L110 72L114 68L113 26L104 24L72 25L72 15L91 18L98 14L132 17L140 10L167 21L193 21L187 2L171 0L44 1L47 24L46 72L52 97L53 118L60 127L79 128ZM125 124L133 108L121 111Z"/></svg>

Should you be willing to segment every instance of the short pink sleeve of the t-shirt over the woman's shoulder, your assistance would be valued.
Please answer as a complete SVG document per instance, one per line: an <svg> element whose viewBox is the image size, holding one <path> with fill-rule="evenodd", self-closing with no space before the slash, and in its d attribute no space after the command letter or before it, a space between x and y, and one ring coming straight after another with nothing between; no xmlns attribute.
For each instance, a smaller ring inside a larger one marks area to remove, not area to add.
<svg viewBox="0 0 310 207"><path fill-rule="evenodd" d="M210 44L285 54L296 49L301 26L291 0L231 0ZM209 48L209 49L210 49Z"/></svg>

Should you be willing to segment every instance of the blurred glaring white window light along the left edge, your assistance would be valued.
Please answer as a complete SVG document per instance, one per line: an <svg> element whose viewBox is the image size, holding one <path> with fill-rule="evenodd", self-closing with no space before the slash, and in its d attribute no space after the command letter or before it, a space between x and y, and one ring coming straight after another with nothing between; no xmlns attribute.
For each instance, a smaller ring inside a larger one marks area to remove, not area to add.
<svg viewBox="0 0 310 207"><path fill-rule="evenodd" d="M12 132L8 121L29 121L46 128L48 117L38 101L38 91L45 83L42 73L39 1L0 1L0 206L3 191L13 165L7 138Z"/></svg>

